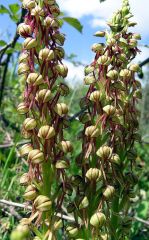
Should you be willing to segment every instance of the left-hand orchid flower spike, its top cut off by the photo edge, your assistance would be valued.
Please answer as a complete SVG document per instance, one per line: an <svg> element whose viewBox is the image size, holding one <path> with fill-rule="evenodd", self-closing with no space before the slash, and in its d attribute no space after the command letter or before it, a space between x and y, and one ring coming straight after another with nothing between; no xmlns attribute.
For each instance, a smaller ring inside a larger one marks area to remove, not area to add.
<svg viewBox="0 0 149 240"><path fill-rule="evenodd" d="M32 203L32 214L22 219L12 239L57 239L66 195L67 154L72 144L66 141L68 106L61 96L69 93L63 83L67 66L62 63L65 36L59 31L60 10L55 0L23 0L27 9L18 34L25 40L19 57L18 74L24 82L23 101L18 112L25 116L22 135L30 143L20 148L28 162L28 172L20 179L26 187L24 198Z"/></svg>

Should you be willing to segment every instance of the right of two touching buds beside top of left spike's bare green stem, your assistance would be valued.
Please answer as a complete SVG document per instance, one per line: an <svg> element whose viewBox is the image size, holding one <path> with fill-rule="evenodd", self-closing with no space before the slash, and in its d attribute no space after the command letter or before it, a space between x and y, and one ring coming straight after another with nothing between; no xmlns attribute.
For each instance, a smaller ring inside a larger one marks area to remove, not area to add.
<svg viewBox="0 0 149 240"><path fill-rule="evenodd" d="M39 149L33 149L28 154L28 161L33 164L40 164L44 161L44 154Z"/></svg>

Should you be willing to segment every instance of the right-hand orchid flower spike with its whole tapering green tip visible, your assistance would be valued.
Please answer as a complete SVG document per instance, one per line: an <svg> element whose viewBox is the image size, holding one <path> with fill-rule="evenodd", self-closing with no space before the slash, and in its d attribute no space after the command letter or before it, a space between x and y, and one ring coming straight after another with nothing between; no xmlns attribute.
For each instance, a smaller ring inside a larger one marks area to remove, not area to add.
<svg viewBox="0 0 149 240"><path fill-rule="evenodd" d="M89 86L81 100L85 110L80 117L82 152L77 164L78 178L73 212L78 217L77 237L83 239L125 239L129 236L128 217L136 176L134 142L140 139L139 112L141 85L135 79L139 65L131 63L140 35L128 32L131 22L128 0L108 23L110 31L98 31L105 43L95 43L94 61L85 68L84 83ZM79 218L80 224L79 224Z"/></svg>

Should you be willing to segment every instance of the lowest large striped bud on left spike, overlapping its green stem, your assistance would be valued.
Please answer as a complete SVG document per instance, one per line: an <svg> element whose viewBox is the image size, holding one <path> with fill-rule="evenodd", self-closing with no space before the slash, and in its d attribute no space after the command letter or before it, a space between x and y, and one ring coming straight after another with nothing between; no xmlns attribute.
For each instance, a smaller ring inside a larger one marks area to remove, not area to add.
<svg viewBox="0 0 149 240"><path fill-rule="evenodd" d="M50 211L51 205L52 205L51 200L44 195L39 195L34 201L35 208L40 212Z"/></svg>

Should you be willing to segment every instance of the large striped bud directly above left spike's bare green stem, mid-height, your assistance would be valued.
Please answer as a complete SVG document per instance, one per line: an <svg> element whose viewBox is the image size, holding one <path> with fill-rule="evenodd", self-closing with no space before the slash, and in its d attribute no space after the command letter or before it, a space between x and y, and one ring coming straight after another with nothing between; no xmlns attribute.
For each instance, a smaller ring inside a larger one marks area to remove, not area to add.
<svg viewBox="0 0 149 240"><path fill-rule="evenodd" d="M55 129L49 125L42 126L39 129L38 137L43 138L44 140L50 139L55 136Z"/></svg>

